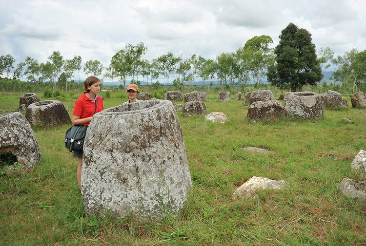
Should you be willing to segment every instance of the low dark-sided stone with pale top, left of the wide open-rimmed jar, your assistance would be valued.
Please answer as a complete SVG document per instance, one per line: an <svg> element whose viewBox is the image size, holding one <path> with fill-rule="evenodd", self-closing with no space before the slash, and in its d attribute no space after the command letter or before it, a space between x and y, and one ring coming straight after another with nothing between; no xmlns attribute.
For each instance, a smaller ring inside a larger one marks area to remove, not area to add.
<svg viewBox="0 0 366 246"><path fill-rule="evenodd" d="M286 117L285 107L276 100L253 102L248 109L249 121L262 119L281 119Z"/></svg>

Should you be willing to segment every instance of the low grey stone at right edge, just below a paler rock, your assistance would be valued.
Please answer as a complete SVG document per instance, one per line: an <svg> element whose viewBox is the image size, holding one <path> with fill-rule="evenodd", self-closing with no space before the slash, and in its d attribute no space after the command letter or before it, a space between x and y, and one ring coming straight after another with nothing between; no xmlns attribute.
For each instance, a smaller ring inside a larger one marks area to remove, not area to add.
<svg viewBox="0 0 366 246"><path fill-rule="evenodd" d="M357 203L362 203L366 200L366 181L344 178L341 181L339 190L342 194L354 198Z"/></svg>

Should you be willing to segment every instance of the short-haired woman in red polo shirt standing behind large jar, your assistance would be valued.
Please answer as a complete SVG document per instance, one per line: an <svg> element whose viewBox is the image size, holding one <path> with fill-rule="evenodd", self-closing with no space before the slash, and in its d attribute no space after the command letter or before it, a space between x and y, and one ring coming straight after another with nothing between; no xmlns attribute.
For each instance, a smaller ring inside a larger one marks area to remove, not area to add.
<svg viewBox="0 0 366 246"><path fill-rule="evenodd" d="M72 113L72 123L74 125L88 126L95 113L103 110L102 97L98 96L101 91L101 81L95 76L89 76L84 81L85 92L76 100ZM78 158L79 166L76 171L79 187L81 189L81 168L82 151L74 151L74 157Z"/></svg>

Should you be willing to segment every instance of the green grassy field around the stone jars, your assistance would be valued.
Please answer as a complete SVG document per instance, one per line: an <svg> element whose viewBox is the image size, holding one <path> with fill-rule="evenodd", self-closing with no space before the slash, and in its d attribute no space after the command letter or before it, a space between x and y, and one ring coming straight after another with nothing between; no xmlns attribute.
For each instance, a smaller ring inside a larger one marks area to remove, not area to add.
<svg viewBox="0 0 366 246"><path fill-rule="evenodd" d="M17 109L20 95L0 94L0 109ZM60 99L70 114L76 97ZM112 95L104 108L125 98ZM247 106L217 102L216 94L205 102L207 114L223 112L224 125L178 112L193 189L178 216L157 223L86 216L77 159L63 145L69 126L33 127L42 162L33 172L0 176L0 246L365 246L366 204L338 192L342 178L361 179L350 164L366 149L366 110L352 109L346 99L348 109L325 110L316 121L249 124ZM354 124L341 124L343 117ZM248 146L271 153L241 150ZM252 176L289 187L233 199Z"/></svg>

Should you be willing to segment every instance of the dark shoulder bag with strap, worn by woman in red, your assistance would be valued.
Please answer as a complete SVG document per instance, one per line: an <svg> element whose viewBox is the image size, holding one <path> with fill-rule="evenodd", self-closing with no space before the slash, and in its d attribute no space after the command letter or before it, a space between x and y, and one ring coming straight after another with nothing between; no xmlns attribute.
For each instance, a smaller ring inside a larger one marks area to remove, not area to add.
<svg viewBox="0 0 366 246"><path fill-rule="evenodd" d="M94 114L97 111L98 96L95 102ZM94 115L93 114L93 115ZM73 125L66 131L65 134L65 147L72 151L82 151L84 146L85 134L88 126Z"/></svg>

